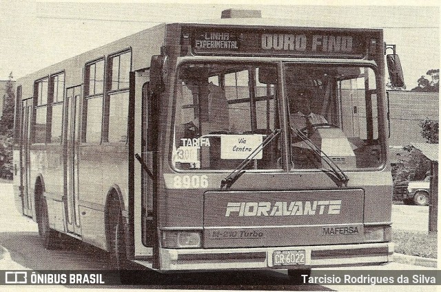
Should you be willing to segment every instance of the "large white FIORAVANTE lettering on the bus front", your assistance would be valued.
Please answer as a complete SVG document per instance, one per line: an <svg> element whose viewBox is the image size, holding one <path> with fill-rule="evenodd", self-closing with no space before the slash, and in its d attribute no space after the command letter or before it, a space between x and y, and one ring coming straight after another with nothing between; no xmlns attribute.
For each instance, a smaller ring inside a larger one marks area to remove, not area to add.
<svg viewBox="0 0 441 292"><path fill-rule="evenodd" d="M342 200L291 202L228 202L225 216L338 215Z"/></svg>

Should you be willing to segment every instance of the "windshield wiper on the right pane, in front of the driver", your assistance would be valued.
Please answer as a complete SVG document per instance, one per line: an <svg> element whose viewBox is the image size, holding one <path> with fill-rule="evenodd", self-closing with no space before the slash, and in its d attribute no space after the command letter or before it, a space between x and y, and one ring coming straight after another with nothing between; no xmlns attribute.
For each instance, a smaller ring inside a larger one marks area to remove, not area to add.
<svg viewBox="0 0 441 292"><path fill-rule="evenodd" d="M291 131L294 131L294 128L291 127ZM325 168L321 168L320 170L325 172L338 187L341 187L342 185L347 186L349 177L347 177L345 172L343 172L343 170L341 170L341 168L339 168L338 165L332 159L330 159L328 155L326 155L326 153L318 148L318 146L314 144L314 142L312 142L312 140L309 139L309 137L302 133L302 131L300 131L298 128L296 128L296 134L298 137L300 137L300 139L302 139L303 142L305 142L305 144L307 144L307 146L314 152L315 155L318 156L319 159L325 160L325 162L331 168L331 170Z"/></svg>

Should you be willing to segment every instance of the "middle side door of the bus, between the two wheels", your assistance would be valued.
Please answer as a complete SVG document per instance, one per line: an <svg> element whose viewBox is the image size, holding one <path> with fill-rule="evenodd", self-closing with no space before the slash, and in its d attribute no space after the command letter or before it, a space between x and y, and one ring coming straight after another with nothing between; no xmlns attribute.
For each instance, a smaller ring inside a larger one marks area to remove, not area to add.
<svg viewBox="0 0 441 292"><path fill-rule="evenodd" d="M78 147L81 86L66 90L65 119L65 212L68 232L81 234L78 208Z"/></svg>

